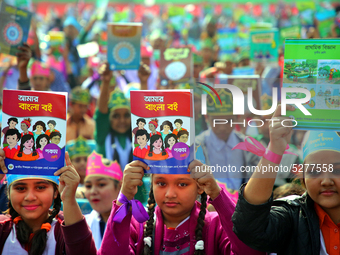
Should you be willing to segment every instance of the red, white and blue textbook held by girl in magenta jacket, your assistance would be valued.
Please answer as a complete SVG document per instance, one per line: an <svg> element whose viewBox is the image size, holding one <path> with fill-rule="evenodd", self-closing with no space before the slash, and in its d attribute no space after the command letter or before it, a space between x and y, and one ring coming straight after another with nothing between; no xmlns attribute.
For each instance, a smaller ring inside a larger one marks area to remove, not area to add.
<svg viewBox="0 0 340 255"><path fill-rule="evenodd" d="M146 173L187 174L194 159L194 109L191 90L131 91L133 159Z"/></svg>

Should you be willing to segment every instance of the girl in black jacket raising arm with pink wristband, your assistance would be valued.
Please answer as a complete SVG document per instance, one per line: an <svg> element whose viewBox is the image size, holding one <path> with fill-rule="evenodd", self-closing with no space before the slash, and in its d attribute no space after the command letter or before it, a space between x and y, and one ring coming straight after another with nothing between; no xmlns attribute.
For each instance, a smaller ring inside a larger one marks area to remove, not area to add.
<svg viewBox="0 0 340 255"><path fill-rule="evenodd" d="M292 109L291 107L289 107ZM287 109L289 109L287 107ZM293 110L293 109L292 109ZM277 254L339 254L340 223L340 136L336 132L310 131L303 146L302 182L307 192L297 198L273 201L272 190L281 156L292 128L283 127L274 113L270 144L259 167L241 187L233 215L236 235L249 246ZM286 126L292 126L288 119ZM262 164L262 165L261 165Z"/></svg>

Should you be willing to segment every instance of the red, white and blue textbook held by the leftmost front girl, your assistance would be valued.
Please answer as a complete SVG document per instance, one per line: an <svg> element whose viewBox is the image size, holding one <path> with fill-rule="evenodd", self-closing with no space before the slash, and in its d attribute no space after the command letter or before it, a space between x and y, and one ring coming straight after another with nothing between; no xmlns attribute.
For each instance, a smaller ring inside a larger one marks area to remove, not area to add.
<svg viewBox="0 0 340 255"><path fill-rule="evenodd" d="M65 164L67 93L3 91L1 148L9 174L53 175Z"/></svg>

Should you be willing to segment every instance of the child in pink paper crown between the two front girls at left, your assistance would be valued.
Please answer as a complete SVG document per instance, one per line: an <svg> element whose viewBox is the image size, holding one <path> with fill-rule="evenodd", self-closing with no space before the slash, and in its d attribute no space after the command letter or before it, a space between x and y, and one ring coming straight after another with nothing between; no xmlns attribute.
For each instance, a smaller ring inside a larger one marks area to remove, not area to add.
<svg viewBox="0 0 340 255"><path fill-rule="evenodd" d="M88 157L85 177L85 197L93 211L85 215L90 226L96 248L102 243L107 220L111 213L112 201L117 199L123 172L119 164L92 152Z"/></svg>

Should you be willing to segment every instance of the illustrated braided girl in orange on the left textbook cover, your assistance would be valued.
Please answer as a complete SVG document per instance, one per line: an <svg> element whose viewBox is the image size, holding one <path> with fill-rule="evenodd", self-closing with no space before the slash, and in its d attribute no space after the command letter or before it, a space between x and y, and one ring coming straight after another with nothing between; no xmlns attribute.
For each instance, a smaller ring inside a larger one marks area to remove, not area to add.
<svg viewBox="0 0 340 255"><path fill-rule="evenodd" d="M39 154L35 150L33 135L24 135L20 141L20 150L18 150L13 159L21 161L31 161L39 158Z"/></svg>

